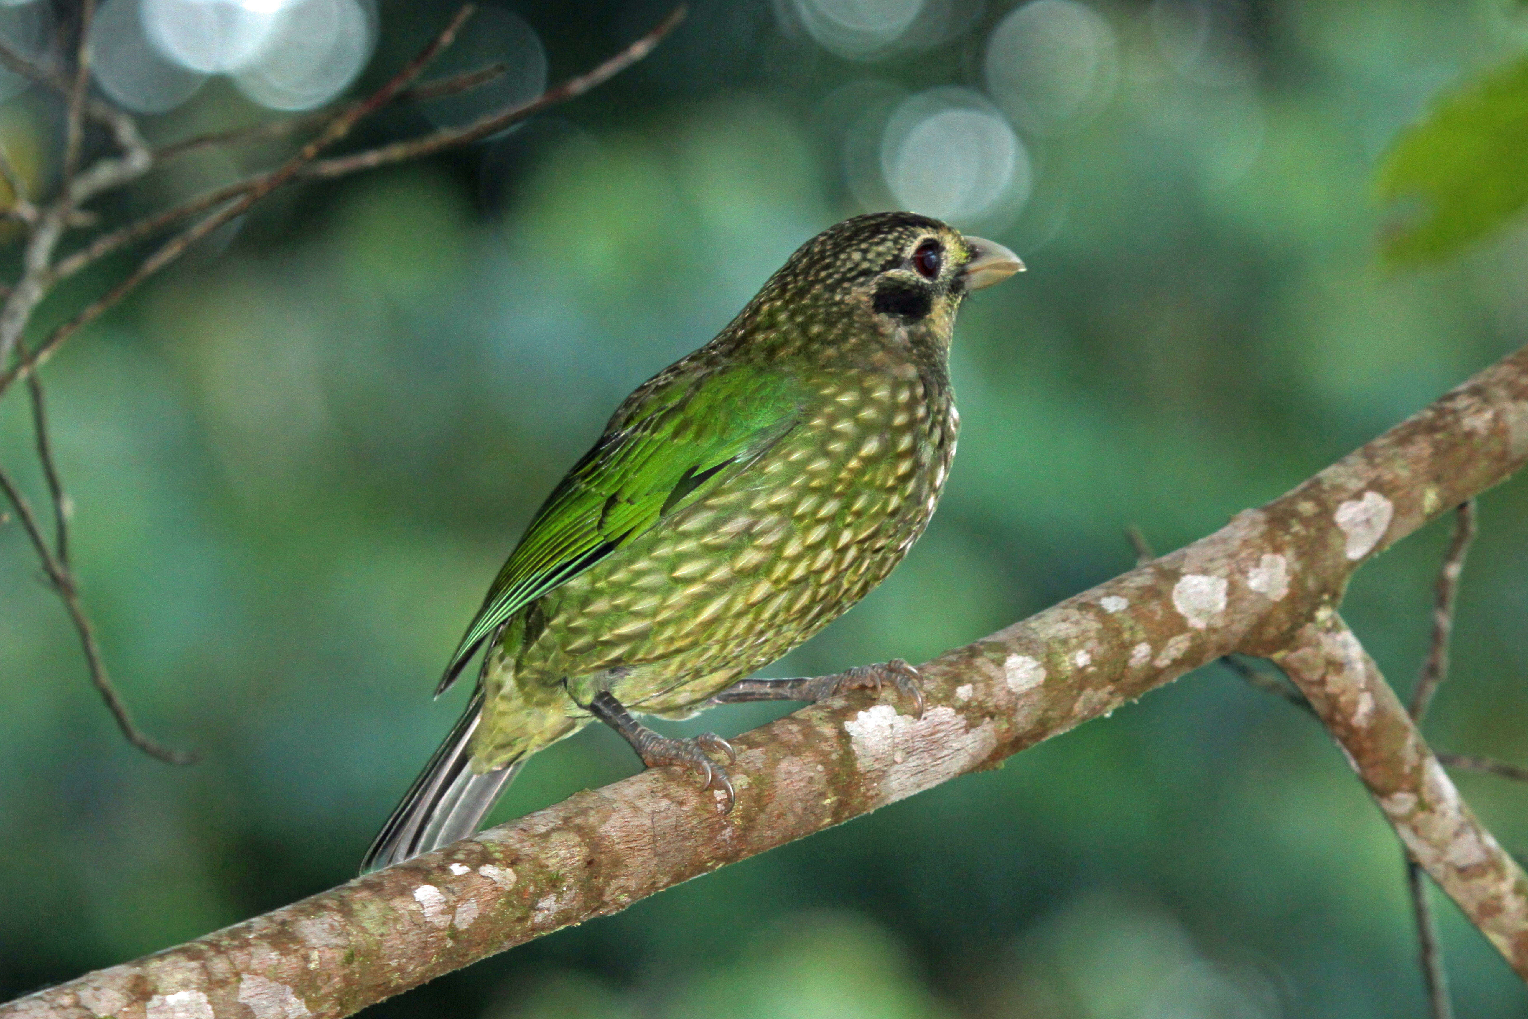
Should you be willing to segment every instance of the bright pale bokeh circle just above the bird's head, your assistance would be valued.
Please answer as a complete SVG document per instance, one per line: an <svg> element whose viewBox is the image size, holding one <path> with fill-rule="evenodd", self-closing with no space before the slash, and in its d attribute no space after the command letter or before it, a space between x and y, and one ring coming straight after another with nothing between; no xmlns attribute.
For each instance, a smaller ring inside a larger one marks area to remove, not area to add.
<svg viewBox="0 0 1528 1019"><path fill-rule="evenodd" d="M964 89L932 89L897 107L880 157L897 205L953 223L979 218L1004 199L1022 205L1033 177L1008 122Z"/></svg>

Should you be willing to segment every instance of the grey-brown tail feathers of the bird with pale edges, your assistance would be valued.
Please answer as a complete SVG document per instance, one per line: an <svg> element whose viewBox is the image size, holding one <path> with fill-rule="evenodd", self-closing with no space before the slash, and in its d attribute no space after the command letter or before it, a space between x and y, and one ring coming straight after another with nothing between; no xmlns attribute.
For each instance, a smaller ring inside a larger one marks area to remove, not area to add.
<svg viewBox="0 0 1528 1019"><path fill-rule="evenodd" d="M478 691L371 842L361 860L362 874L439 849L478 830L483 816L523 764L521 759L483 775L472 772L468 744L478 727L481 710L483 691Z"/></svg>

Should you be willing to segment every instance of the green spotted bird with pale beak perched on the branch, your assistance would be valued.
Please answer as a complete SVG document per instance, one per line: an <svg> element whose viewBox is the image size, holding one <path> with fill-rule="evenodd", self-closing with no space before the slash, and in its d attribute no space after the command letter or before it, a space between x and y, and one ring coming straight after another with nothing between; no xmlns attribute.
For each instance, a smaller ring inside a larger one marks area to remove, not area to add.
<svg viewBox="0 0 1528 1019"><path fill-rule="evenodd" d="M626 397L532 518L446 666L477 651L460 721L362 871L474 834L526 759L599 720L646 767L735 801L736 756L637 715L821 701L894 684L906 662L759 680L906 556L938 504L960 414L955 313L1024 269L1012 251L912 212L857 215L802 244L715 339Z"/></svg>

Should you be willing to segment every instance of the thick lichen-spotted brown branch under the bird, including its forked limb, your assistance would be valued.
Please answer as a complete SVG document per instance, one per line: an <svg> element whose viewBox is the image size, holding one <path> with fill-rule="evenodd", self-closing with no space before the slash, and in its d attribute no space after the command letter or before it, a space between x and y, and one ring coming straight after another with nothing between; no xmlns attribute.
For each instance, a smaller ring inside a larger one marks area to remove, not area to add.
<svg viewBox="0 0 1528 1019"><path fill-rule="evenodd" d="M1290 669L1415 859L1528 975L1522 871L1335 614L1355 568L1525 461L1528 348L1216 533L940 655L923 666L921 720L856 697L747 733L730 814L689 775L654 768L0 1017L347 1016L992 767L1230 652Z"/></svg>

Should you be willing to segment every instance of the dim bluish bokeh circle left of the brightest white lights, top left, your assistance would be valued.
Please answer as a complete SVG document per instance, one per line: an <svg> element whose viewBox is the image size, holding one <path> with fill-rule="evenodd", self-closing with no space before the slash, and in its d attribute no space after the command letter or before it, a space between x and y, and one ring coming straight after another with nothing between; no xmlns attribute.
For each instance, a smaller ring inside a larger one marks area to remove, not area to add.
<svg viewBox="0 0 1528 1019"><path fill-rule="evenodd" d="M165 113L202 87L206 75L167 60L144 31L139 0L107 0L90 24L90 72L113 101L134 113Z"/></svg>

